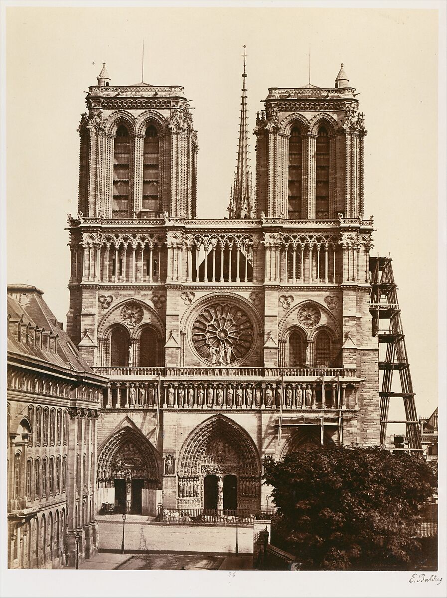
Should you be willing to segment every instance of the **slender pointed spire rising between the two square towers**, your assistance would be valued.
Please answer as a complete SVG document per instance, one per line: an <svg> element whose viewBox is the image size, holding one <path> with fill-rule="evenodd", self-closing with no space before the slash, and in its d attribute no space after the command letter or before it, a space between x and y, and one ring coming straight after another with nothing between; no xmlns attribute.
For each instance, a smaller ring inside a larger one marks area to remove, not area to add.
<svg viewBox="0 0 447 598"><path fill-rule="evenodd" d="M244 46L244 72L242 74L242 96L241 114L239 123L239 143L237 149L237 166L234 174L234 184L231 199L228 206L230 218L253 218L254 202L252 173L249 166L249 142L248 142L248 115L247 115L247 93L245 80L247 74L246 51Z"/></svg>

